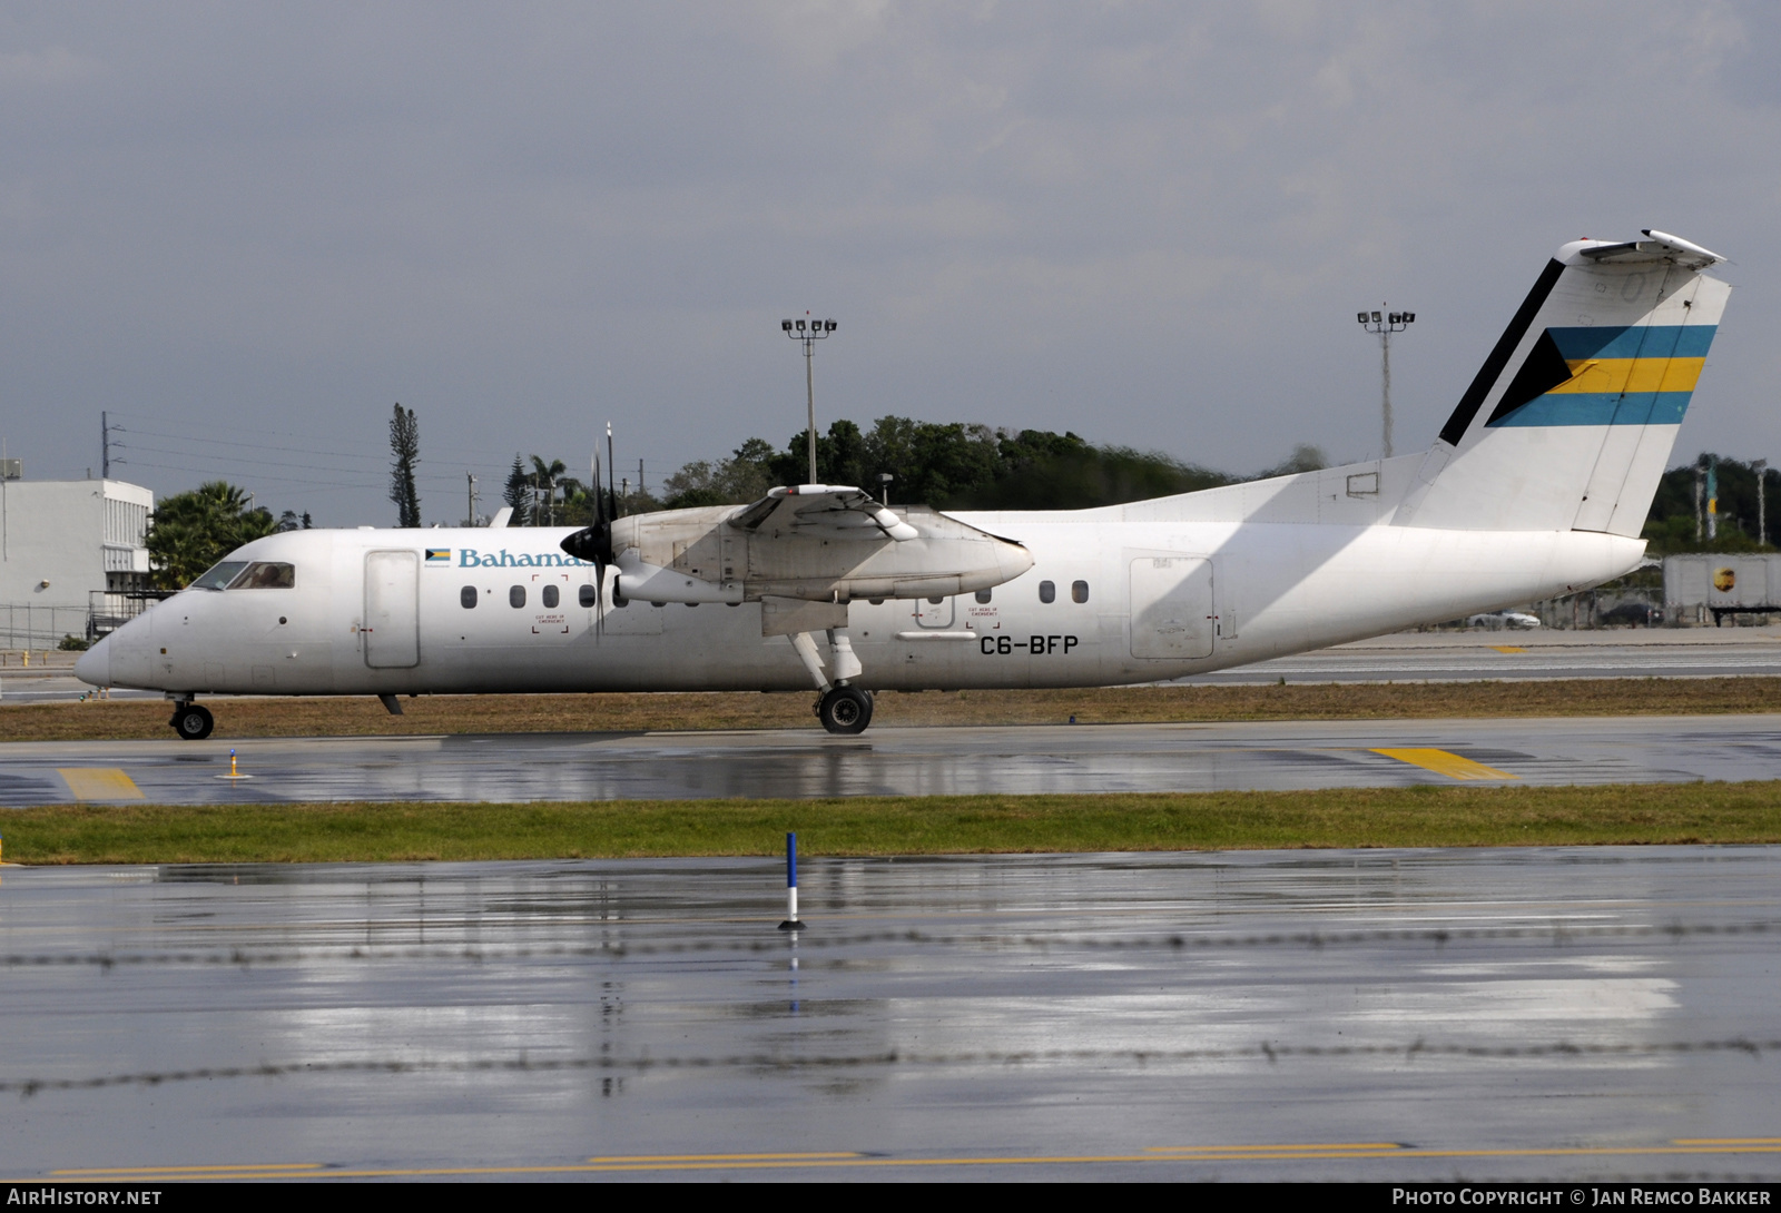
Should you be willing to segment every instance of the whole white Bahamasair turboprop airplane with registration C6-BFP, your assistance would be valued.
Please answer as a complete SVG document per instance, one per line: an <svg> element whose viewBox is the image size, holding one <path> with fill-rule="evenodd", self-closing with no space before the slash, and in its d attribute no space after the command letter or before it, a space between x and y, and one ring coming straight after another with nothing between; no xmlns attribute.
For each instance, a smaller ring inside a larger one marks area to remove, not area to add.
<svg viewBox="0 0 1781 1213"><path fill-rule="evenodd" d="M80 657L199 695L787 691L1156 682L1583 590L1639 538L1729 287L1662 232L1573 240L1421 454L1053 513L858 488L570 529L290 531ZM598 468L597 468L598 472ZM602 499L611 501L611 495ZM789 641L789 643L787 643Z"/></svg>

